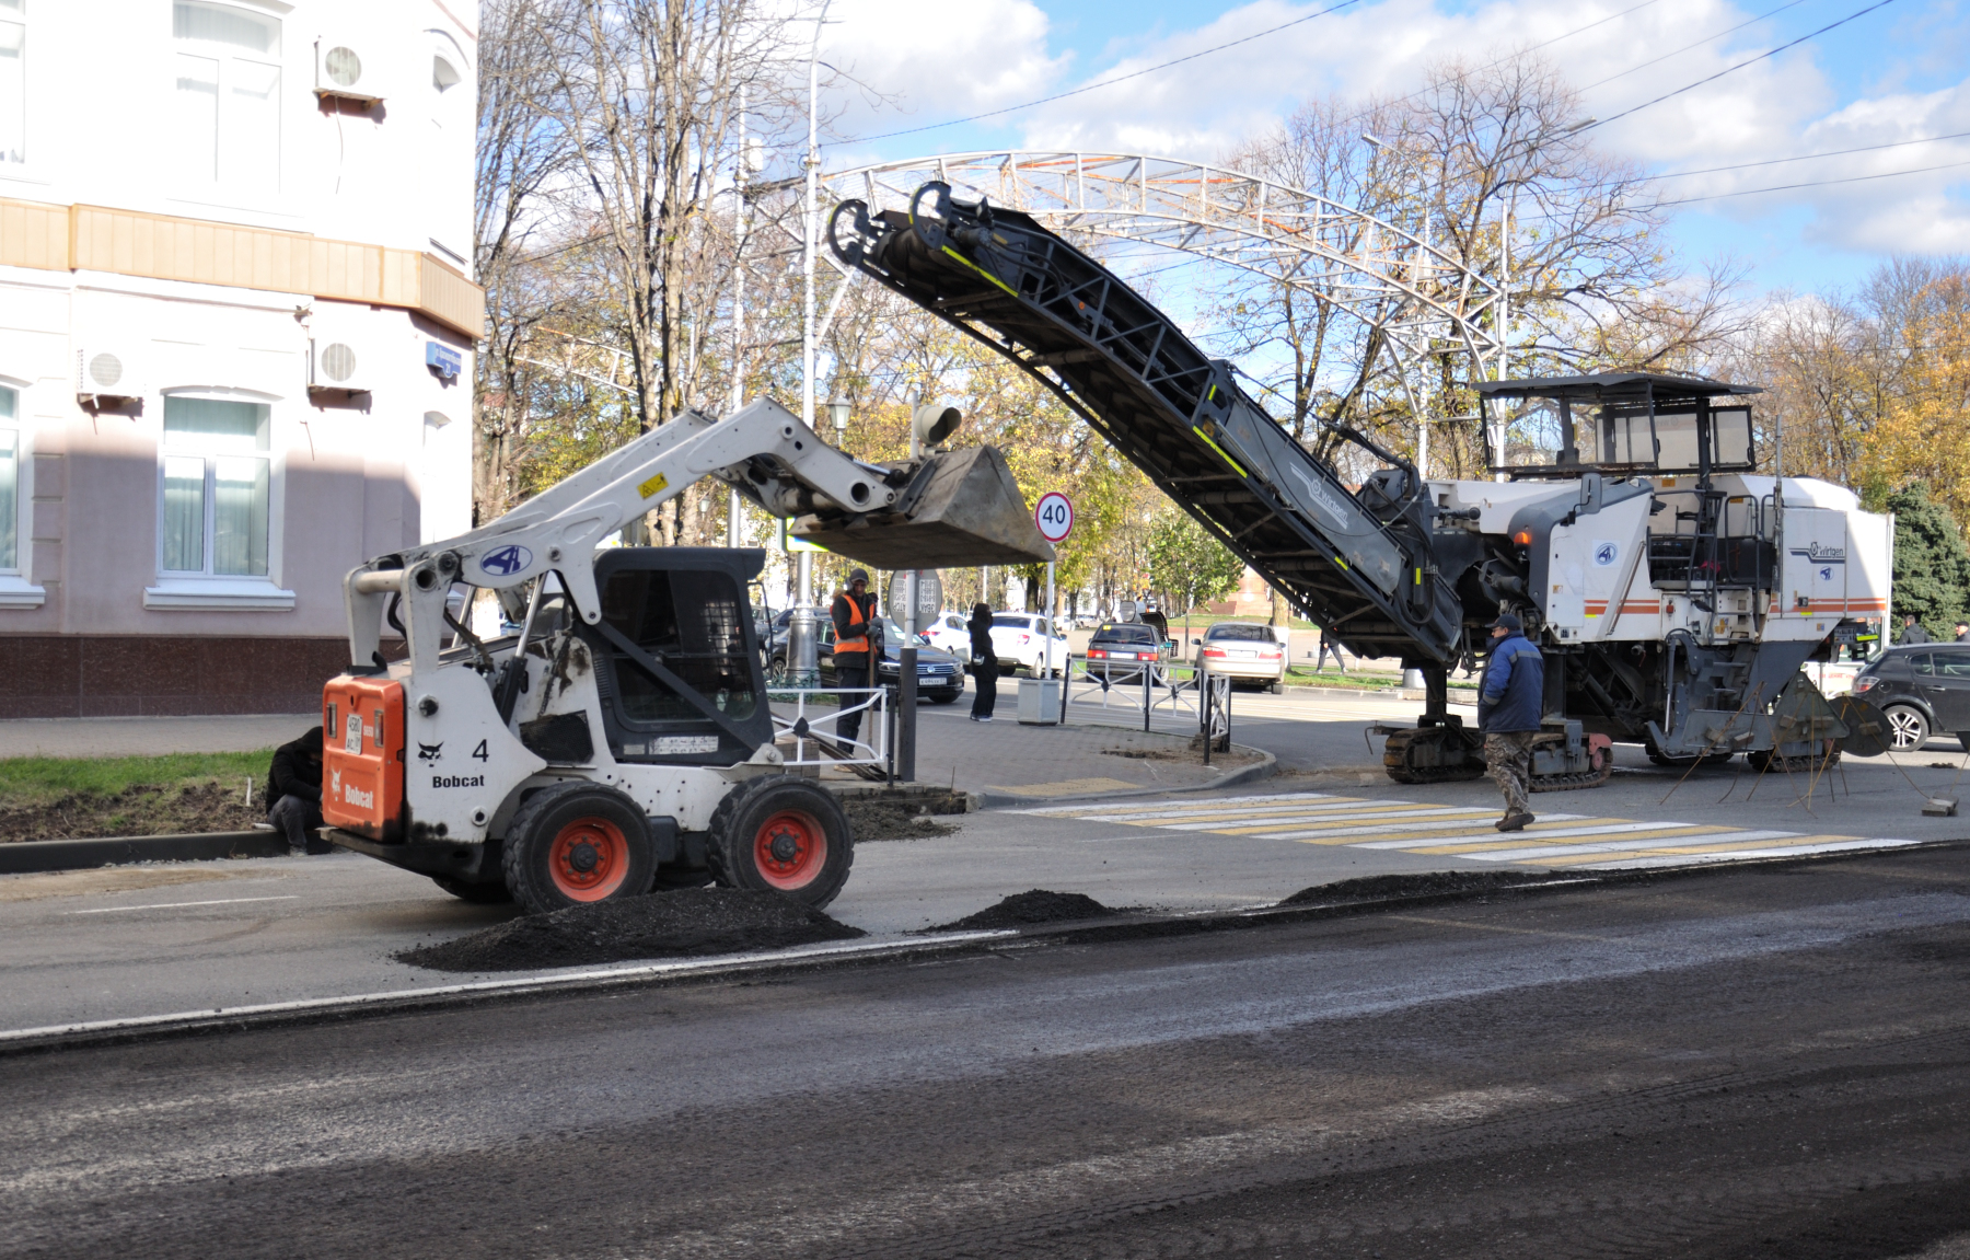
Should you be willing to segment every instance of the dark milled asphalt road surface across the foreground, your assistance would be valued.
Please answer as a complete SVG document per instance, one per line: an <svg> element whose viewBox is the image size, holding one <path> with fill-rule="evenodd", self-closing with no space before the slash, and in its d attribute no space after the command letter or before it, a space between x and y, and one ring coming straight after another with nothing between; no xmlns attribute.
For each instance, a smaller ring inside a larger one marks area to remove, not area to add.
<svg viewBox="0 0 1970 1260"><path fill-rule="evenodd" d="M0 1254L1964 1256L1970 850L4 1061Z"/></svg>

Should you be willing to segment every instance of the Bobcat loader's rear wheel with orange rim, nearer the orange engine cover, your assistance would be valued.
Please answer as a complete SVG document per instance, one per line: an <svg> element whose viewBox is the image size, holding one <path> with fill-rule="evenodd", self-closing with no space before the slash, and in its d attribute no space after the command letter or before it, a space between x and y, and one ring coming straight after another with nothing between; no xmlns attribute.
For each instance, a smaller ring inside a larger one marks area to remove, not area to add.
<svg viewBox="0 0 1970 1260"><path fill-rule="evenodd" d="M544 787L514 810L502 854L506 887L530 915L640 897L656 879L650 822L601 783Z"/></svg>

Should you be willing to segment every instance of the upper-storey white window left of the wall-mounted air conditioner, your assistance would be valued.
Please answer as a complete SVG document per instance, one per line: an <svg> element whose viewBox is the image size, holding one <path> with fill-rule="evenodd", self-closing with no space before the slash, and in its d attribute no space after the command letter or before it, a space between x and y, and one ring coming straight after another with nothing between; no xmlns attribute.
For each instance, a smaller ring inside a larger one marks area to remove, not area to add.
<svg viewBox="0 0 1970 1260"><path fill-rule="evenodd" d="M4 0L0 0L4 2ZM173 0L177 142L199 183L280 187L280 20Z"/></svg>

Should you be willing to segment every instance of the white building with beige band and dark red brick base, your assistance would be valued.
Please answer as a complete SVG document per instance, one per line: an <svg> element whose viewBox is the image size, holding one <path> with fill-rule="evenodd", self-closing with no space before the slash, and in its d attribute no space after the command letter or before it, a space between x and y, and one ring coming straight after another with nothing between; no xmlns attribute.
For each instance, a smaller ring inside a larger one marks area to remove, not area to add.
<svg viewBox="0 0 1970 1260"><path fill-rule="evenodd" d="M0 0L0 718L309 712L469 528L475 18Z"/></svg>

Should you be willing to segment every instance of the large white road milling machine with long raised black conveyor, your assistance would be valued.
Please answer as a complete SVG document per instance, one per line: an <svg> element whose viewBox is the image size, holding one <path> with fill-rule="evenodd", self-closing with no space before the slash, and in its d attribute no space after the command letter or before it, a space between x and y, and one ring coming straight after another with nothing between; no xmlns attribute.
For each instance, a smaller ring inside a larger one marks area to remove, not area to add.
<svg viewBox="0 0 1970 1260"><path fill-rule="evenodd" d="M1347 485L1229 363L1024 213L926 183L908 211L843 201L827 235L841 262L1030 373L1347 651L1422 670L1420 720L1379 728L1397 781L1481 773L1448 674L1499 613L1546 657L1535 791L1604 783L1615 739L1657 761L1769 763L1854 734L1801 665L1885 621L1889 521L1836 485L1759 473L1757 388L1483 383L1489 479L1426 479L1328 422L1375 465Z"/></svg>

